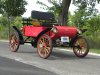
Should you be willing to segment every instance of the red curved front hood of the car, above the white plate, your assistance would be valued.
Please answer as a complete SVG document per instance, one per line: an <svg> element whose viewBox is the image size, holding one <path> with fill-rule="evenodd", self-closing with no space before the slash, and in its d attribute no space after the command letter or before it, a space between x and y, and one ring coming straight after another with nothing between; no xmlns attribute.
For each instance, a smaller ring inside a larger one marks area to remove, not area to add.
<svg viewBox="0 0 100 75"><path fill-rule="evenodd" d="M61 36L69 36L70 38L73 38L77 34L76 27L71 26L55 26L58 29L58 33L54 35L54 33L51 33L51 37L53 39L59 38Z"/></svg>

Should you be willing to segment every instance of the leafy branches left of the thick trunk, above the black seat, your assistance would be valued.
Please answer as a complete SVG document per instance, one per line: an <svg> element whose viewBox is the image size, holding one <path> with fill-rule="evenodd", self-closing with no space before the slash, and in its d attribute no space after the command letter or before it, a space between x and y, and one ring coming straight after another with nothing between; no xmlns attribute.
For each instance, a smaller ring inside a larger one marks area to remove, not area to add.
<svg viewBox="0 0 100 75"><path fill-rule="evenodd" d="M59 1L58 0L48 0L48 1L52 4L52 7L49 7L48 5L40 1L37 1L37 4L42 5L41 7L42 9L48 10L48 12L52 12L55 15L56 20L58 21L58 17L60 16L60 13L62 10L62 6L61 6L62 1L61 0Z"/></svg>

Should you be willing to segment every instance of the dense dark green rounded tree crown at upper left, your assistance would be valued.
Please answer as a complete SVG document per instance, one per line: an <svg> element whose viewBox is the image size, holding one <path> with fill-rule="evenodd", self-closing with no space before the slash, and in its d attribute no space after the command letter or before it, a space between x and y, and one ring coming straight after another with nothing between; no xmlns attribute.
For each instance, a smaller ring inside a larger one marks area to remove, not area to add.
<svg viewBox="0 0 100 75"><path fill-rule="evenodd" d="M5 0L4 10L8 16L21 16L25 11L25 0Z"/></svg>

